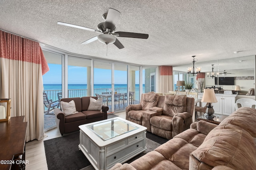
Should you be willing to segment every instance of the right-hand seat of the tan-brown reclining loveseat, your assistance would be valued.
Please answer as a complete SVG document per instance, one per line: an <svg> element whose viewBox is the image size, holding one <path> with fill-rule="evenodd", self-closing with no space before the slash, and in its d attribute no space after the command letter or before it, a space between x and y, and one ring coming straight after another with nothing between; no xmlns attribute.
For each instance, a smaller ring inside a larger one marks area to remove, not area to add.
<svg viewBox="0 0 256 170"><path fill-rule="evenodd" d="M194 98L167 95L161 115L150 118L151 133L172 139L179 133L189 129L192 123Z"/></svg>

